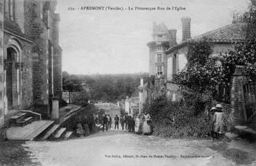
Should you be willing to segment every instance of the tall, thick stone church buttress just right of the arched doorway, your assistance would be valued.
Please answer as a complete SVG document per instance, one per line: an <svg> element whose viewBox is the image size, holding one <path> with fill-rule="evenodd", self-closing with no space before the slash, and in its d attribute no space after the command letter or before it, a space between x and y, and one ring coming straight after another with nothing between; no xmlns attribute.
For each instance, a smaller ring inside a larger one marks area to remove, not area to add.
<svg viewBox="0 0 256 166"><path fill-rule="evenodd" d="M41 113L42 118L51 117L49 107L49 37L48 27L40 18L40 1L34 1L33 20L33 111Z"/></svg>

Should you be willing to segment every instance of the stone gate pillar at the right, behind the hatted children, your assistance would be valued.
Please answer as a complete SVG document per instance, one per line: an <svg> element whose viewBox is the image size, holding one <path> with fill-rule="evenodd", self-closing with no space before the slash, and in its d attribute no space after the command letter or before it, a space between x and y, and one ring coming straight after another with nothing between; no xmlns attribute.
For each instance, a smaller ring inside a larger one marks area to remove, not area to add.
<svg viewBox="0 0 256 166"><path fill-rule="evenodd" d="M233 122L234 125L244 124L246 122L246 118L244 116L244 94L243 87L241 84L243 84L244 80L246 80L245 77L245 66L237 66L233 77L232 77L232 87L231 87L231 100L230 104L232 106L232 116L233 116Z"/></svg>

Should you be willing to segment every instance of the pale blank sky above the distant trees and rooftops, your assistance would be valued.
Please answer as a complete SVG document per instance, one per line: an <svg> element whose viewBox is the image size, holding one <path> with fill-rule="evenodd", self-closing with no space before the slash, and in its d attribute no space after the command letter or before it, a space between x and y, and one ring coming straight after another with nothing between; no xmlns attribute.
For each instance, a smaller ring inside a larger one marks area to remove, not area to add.
<svg viewBox="0 0 256 166"><path fill-rule="evenodd" d="M243 12L249 0L58 0L62 70L74 74L148 72L152 22L176 28L191 17L191 36L231 24L232 12ZM78 10L82 6L184 7L186 10ZM74 7L76 10L68 10Z"/></svg>

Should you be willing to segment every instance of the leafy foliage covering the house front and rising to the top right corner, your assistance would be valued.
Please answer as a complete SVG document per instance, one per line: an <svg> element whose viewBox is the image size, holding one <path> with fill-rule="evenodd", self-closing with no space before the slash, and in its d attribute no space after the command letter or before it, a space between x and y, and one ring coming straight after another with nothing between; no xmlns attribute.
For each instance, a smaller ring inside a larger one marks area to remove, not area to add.
<svg viewBox="0 0 256 166"><path fill-rule="evenodd" d="M219 57L212 57L212 43L210 39L200 42L192 41L189 44L187 66L178 73L176 82L199 93L214 91L218 84L230 84L236 66L246 67L246 75L251 80L256 80L256 1L251 0L249 11L242 17L248 26L246 41L238 44L233 51Z"/></svg>

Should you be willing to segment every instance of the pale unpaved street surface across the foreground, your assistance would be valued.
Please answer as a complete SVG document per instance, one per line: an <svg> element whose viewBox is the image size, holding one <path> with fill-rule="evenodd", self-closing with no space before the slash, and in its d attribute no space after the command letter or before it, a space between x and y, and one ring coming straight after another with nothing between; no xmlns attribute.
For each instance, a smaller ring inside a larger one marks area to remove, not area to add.
<svg viewBox="0 0 256 166"><path fill-rule="evenodd" d="M28 141L41 165L255 165L255 144L139 136L127 131L95 133L59 142Z"/></svg>

